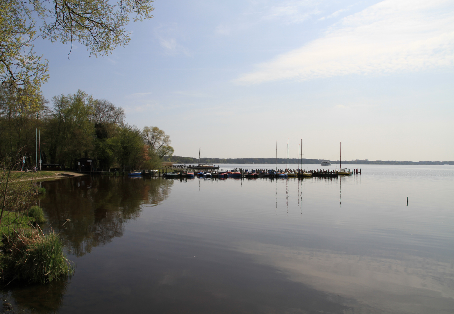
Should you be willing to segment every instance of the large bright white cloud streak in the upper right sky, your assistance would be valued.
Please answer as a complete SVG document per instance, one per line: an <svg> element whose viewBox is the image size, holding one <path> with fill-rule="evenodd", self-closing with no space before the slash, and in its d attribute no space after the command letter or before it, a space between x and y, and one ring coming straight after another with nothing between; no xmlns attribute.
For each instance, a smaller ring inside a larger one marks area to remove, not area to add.
<svg viewBox="0 0 454 314"><path fill-rule="evenodd" d="M382 75L454 65L454 5L385 0L332 25L307 45L257 65L240 84Z"/></svg>

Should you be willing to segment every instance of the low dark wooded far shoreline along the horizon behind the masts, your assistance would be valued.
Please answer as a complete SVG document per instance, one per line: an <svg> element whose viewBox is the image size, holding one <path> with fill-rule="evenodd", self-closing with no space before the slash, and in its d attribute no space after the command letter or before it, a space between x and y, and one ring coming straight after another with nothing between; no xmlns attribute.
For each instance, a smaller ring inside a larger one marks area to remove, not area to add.
<svg viewBox="0 0 454 314"><path fill-rule="evenodd" d="M172 156L164 157L164 161L174 164L197 164L198 158ZM169 160L170 159L170 160ZM303 164L321 164L322 160L327 159L302 159ZM339 164L339 160L328 160L331 164ZM298 164L297 158L289 158L289 164ZM201 158L201 164L276 164L276 158ZM286 158L278 158L277 164L286 164ZM342 160L342 164L449 164L454 165L454 161L398 161L398 160Z"/></svg>

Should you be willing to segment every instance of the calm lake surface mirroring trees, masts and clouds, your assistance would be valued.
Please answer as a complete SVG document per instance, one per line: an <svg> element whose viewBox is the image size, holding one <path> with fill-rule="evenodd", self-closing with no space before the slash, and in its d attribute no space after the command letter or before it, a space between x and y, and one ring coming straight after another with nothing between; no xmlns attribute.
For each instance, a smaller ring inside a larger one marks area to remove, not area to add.
<svg viewBox="0 0 454 314"><path fill-rule="evenodd" d="M454 166L349 166L363 173L45 182L75 274L4 299L19 313L452 314Z"/></svg>

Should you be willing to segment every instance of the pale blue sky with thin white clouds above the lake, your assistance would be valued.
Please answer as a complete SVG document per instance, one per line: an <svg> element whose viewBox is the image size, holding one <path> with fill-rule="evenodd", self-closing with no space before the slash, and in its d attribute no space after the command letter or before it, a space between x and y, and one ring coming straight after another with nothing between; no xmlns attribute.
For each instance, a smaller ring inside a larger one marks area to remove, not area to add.
<svg viewBox="0 0 454 314"><path fill-rule="evenodd" d="M44 96L81 89L174 155L454 160L452 0L156 0L104 58L37 40Z"/></svg>

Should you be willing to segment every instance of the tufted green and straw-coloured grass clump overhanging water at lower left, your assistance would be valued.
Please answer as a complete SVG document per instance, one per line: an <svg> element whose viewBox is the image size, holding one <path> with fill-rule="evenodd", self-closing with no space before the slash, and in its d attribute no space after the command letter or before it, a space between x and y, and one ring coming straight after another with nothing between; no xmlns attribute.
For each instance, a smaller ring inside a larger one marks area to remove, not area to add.
<svg viewBox="0 0 454 314"><path fill-rule="evenodd" d="M33 228L15 232L3 242L3 279L43 284L74 273L74 266L65 258L64 245L54 232L44 234Z"/></svg>

